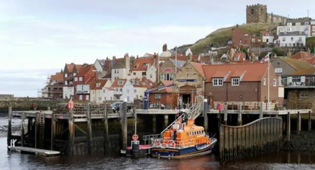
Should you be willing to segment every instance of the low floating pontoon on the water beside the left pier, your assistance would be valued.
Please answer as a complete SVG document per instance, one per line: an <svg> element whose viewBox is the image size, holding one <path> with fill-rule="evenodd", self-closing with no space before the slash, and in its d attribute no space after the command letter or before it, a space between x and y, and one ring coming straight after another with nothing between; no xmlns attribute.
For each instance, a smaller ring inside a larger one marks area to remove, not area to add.
<svg viewBox="0 0 315 170"><path fill-rule="evenodd" d="M43 155L43 156L60 155L59 151L37 149L37 148L32 148L32 147L24 147L24 146L12 146L12 147L10 147L10 146L8 146L8 148L11 151L33 153L35 155Z"/></svg>

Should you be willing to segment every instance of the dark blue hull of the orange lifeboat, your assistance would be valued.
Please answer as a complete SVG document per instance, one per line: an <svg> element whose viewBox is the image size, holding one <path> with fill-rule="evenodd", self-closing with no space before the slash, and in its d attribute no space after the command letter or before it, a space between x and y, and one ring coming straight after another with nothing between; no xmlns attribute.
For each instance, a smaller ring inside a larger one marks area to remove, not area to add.
<svg viewBox="0 0 315 170"><path fill-rule="evenodd" d="M189 157L201 156L211 153L216 142L217 141L215 140L210 144L201 143L196 146L186 148L153 147L151 148L151 154L152 157L164 159L184 159Z"/></svg>

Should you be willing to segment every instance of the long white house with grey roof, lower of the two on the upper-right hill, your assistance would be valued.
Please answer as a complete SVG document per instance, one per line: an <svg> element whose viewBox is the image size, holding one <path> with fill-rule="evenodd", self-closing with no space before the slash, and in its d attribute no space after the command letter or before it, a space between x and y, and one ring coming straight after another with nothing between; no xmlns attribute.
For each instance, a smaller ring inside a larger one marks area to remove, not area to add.
<svg viewBox="0 0 315 170"><path fill-rule="evenodd" d="M280 47L296 47L305 46L306 35L304 32L294 31L294 32L281 32L279 33L279 38L277 41Z"/></svg>

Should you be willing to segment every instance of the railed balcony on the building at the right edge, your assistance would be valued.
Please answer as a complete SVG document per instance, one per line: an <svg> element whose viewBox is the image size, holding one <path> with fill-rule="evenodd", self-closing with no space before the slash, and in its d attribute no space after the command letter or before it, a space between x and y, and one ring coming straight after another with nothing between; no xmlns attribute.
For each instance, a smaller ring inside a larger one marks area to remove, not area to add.
<svg viewBox="0 0 315 170"><path fill-rule="evenodd" d="M285 88L315 88L315 77L287 77L281 80Z"/></svg>

